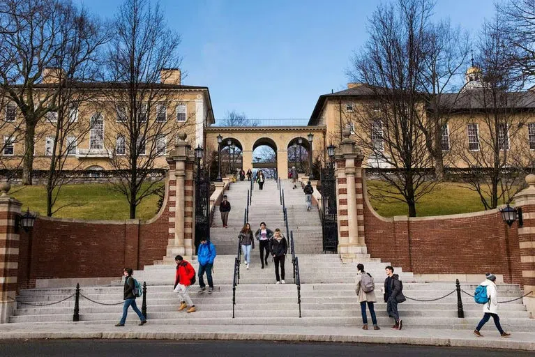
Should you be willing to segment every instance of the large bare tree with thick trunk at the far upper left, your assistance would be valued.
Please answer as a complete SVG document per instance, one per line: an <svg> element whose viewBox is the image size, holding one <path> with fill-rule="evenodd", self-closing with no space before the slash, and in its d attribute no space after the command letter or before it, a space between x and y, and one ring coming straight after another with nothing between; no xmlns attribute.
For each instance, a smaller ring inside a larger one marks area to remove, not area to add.
<svg viewBox="0 0 535 357"><path fill-rule="evenodd" d="M96 61L105 43L102 32L89 37L93 24L70 0L0 1L0 79L24 120L24 185L31 185L36 126L58 111L54 103L68 82L84 81L79 68Z"/></svg>

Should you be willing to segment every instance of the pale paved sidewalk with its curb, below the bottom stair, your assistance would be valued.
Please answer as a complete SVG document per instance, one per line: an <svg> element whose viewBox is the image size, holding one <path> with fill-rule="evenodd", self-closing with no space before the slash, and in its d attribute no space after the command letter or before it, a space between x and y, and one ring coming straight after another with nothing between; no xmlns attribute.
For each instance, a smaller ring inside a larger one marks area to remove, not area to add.
<svg viewBox="0 0 535 357"><path fill-rule="evenodd" d="M481 347L491 349L522 349L535 351L534 333L515 333L509 338L498 336L492 328L483 328L485 337L476 337L470 330L450 331L411 329L392 331L383 326L381 331L363 331L357 327L333 326L264 326L272 332L257 333L259 326L236 325L151 325L137 326L127 321L125 327L84 323L2 324L0 339L147 339L147 340L279 340L293 342L362 342L389 344L421 344L452 347Z"/></svg>

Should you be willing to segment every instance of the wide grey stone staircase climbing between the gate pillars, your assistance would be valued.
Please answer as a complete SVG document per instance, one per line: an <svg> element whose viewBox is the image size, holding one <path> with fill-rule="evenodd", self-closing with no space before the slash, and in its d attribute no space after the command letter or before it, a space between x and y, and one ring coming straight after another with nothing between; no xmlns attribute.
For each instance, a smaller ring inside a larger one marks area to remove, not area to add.
<svg viewBox="0 0 535 357"><path fill-rule="evenodd" d="M135 271L134 276L147 284L147 312L150 324L204 324L204 325L361 325L360 305L354 292L356 263L344 264L338 255L318 254L321 252L321 224L317 209L306 211L303 191L292 189L284 180L285 204L288 208L289 225L294 230L296 255L301 271L301 318L297 304L297 289L292 274L291 259L286 261L286 284L274 284L273 261L261 269L259 249L252 252L250 269L241 264L240 284L236 287L235 316L232 319L232 277L237 250L237 236L243 224L243 209L246 207L248 182L230 185L227 192L232 204L229 227L221 227L219 215L214 219L211 240L216 245L218 257L214 265L215 290L209 295L199 293L198 285L190 292L197 312L178 312L179 298L172 292L175 266L164 259ZM279 203L276 182L266 181L264 190L255 185L253 204L250 206L249 221L253 229L259 222L266 222L271 229L284 229L282 207ZM375 306L379 326L389 327L392 319L386 314L382 302L381 287L384 281L384 267L389 262L361 255L366 271L375 277L378 302ZM195 269L198 264L191 261ZM395 268L403 281L404 294L409 298L429 300L448 294L455 289L455 282L418 282L410 272ZM481 278L483 280L483 276ZM462 289L473 292L477 284L462 284ZM123 297L123 281L116 280L110 286L82 287L82 294L100 303L120 303ZM21 302L10 317L10 322L50 323L72 321L74 298L50 306L34 307L22 303L43 304L60 301L73 294L74 289L28 289L20 291L17 301ZM498 284L500 301L522 296L523 291L516 284ZM438 301L407 300L399 305L404 328L447 328L472 329L482 317L482 307L473 298L463 294L465 319L457 317L456 294ZM138 306L141 301L138 301ZM503 303L499 306L502 325L509 331L535 331L535 319L529 319L522 300ZM80 324L114 324L121 317L121 305L98 305L80 298ZM129 312L127 324L133 324L137 316ZM368 317L369 319L369 317ZM371 322L371 321L369 321ZM494 329L492 321L484 329Z"/></svg>

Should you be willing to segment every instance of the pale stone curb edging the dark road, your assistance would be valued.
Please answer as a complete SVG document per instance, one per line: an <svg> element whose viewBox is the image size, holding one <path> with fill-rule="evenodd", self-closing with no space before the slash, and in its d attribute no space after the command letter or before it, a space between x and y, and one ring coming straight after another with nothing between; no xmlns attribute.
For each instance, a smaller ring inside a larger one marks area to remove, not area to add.
<svg viewBox="0 0 535 357"><path fill-rule="evenodd" d="M471 347L484 349L508 349L534 351L535 342L522 342L515 340L476 340L469 338L451 337L389 337L367 335L324 335L324 334L280 334L280 333L218 333L218 332L4 332L0 333L0 340L44 340L44 339L106 339L106 340L257 340L257 341L284 341L284 342L351 342L370 344L414 344L440 347Z"/></svg>

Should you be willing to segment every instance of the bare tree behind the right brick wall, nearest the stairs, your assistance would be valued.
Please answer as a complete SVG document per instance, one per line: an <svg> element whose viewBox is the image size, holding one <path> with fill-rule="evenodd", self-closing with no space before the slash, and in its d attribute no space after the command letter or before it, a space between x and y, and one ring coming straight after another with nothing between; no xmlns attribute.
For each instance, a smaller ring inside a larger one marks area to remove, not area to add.
<svg viewBox="0 0 535 357"><path fill-rule="evenodd" d="M419 126L425 121L421 81L431 11L426 0L378 6L370 18L370 38L354 54L348 73L367 87L371 98L354 108L357 142L369 155L369 165L389 168L379 170L388 185L377 186L375 194L405 202L410 217L416 216L416 202L435 185L426 174L433 160Z"/></svg>

